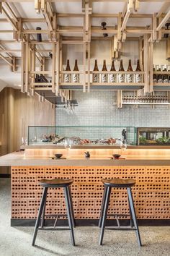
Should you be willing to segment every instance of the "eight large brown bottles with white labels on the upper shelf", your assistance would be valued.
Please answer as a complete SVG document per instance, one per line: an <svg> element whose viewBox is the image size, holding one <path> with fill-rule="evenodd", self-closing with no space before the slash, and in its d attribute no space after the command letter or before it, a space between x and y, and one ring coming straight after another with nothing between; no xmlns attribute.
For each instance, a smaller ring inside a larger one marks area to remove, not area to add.
<svg viewBox="0 0 170 256"><path fill-rule="evenodd" d="M66 71L70 72L71 68L70 68L70 64L69 64L69 59L67 60L67 65L66 65ZM77 64L77 59L75 60L75 65L73 68L73 72L79 72L79 68L78 68L78 64ZM95 64L94 64L94 72L98 72L99 68L97 65L97 59L95 60ZM107 65L106 65L106 60L104 59L103 61L103 67L102 67L102 71L105 72L107 71ZM110 71L112 72L116 72L115 69L115 63L114 60L112 60L112 66ZM131 60L129 60L129 65L128 65L128 72L133 72L133 67L131 64ZM120 60L120 69L119 72L125 72L125 69L123 67L123 63L122 63L122 59ZM111 74L106 74L103 73L101 74L101 81L100 81L100 76L98 73L93 73L93 78L92 81L95 82L143 82L143 76L142 74L138 73L141 72L140 69L140 61L137 61L137 67L135 69L136 74L116 74L116 73L111 73ZM73 73L72 74L72 80L71 80L71 74L64 74L64 82L79 82L80 81L80 77L79 77L79 73Z"/></svg>

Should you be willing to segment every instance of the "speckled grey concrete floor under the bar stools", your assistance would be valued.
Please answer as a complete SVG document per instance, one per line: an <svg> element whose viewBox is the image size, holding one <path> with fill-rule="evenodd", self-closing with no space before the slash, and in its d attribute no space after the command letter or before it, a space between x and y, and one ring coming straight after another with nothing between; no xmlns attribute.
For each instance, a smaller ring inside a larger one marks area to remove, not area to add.
<svg viewBox="0 0 170 256"><path fill-rule="evenodd" d="M0 179L0 256L169 256L170 226L140 227L143 247L133 231L105 231L104 245L98 245L97 227L77 227L76 247L69 231L38 231L36 246L31 246L33 227L10 226L10 179Z"/></svg>

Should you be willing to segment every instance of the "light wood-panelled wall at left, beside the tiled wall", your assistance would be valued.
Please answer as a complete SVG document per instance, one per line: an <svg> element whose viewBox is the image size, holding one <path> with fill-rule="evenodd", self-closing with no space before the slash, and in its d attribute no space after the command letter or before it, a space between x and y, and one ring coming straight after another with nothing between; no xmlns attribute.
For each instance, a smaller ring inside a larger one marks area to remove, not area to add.
<svg viewBox="0 0 170 256"><path fill-rule="evenodd" d="M0 155L18 150L29 125L55 125L55 109L51 103L28 97L20 90L4 88L0 92ZM8 173L0 168L0 173Z"/></svg>

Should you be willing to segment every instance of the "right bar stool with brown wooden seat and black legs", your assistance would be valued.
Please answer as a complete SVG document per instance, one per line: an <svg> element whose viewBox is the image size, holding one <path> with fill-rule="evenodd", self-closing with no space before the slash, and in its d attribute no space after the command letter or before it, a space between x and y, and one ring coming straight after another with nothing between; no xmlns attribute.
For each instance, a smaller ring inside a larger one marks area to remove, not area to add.
<svg viewBox="0 0 170 256"><path fill-rule="evenodd" d="M135 230L136 236L138 239L139 246L142 246L141 240L140 240L140 234L138 229L138 221L136 219L135 215L135 208L133 203L133 195L131 192L131 187L135 185L134 179L102 179L102 183L104 184L104 195L102 198L102 208L99 218L99 227L101 228L100 237L99 237L99 245L102 245L103 242L103 236L104 236L104 228L107 216L115 216L117 221L117 226L108 228L108 229L115 229L115 230ZM129 202L129 211L130 215L127 214L107 214L107 210L109 207L109 197L111 193L112 187L115 188L126 188L128 192L128 202ZM120 222L118 220L118 216L130 216L130 227L120 227ZM134 225L133 225L134 223Z"/></svg>

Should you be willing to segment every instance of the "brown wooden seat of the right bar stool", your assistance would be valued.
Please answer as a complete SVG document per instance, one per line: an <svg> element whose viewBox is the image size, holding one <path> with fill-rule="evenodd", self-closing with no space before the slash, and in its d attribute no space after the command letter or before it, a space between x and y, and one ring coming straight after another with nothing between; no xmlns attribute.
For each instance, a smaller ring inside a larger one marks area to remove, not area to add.
<svg viewBox="0 0 170 256"><path fill-rule="evenodd" d="M135 179L102 179L102 183L107 187L133 187Z"/></svg>

